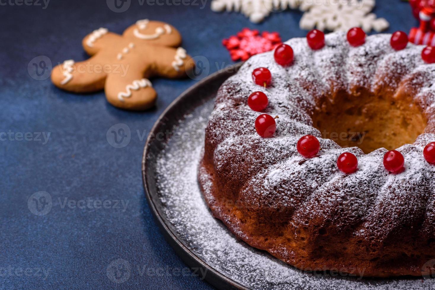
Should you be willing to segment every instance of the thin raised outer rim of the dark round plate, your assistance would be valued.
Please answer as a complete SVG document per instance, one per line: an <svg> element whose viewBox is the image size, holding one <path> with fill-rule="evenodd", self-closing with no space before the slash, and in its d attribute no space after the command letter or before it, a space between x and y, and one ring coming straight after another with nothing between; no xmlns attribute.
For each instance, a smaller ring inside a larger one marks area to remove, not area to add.
<svg viewBox="0 0 435 290"><path fill-rule="evenodd" d="M158 128L162 125L162 121L165 119L165 116L171 109L173 109L175 106L178 105L179 102L181 102L183 99L187 98L194 90L204 85L204 83L210 82L215 78L221 77L222 75L228 75L230 77L233 75L237 70L240 68L240 66L243 63L235 63L231 66L225 67L223 70L219 70L217 72L214 72L210 76L207 76L204 79L201 79L199 82L195 83L193 86L190 86L188 89L186 89L184 92L182 92L174 101L171 102L167 106L166 109L161 113L161 115L157 118L156 122L154 122L154 125L151 128L150 133L148 134L147 141L145 142L144 146L144 152L142 155L142 164L141 164L141 174L142 174L142 184L144 187L144 193L147 198L148 206L151 210L152 215L154 216L155 221L157 222L157 225L160 228L161 233L164 235L165 240L168 242L168 244L171 245L171 247L175 250L177 255L181 257L181 259L184 261L185 264L187 264L189 267L202 267L207 269L207 274L204 277L204 280L206 280L208 283L210 283L212 286L217 287L218 289L228 289L230 287L231 289L243 289L243 290L249 290L250 288L243 286L242 284L236 282L235 280L225 276L218 270L214 269L210 265L208 265L204 260L202 260L200 257L195 255L187 245L185 245L174 233L171 231L171 228L169 227L169 221L162 216L158 210L157 206L155 204L155 201L153 200L151 196L151 190L149 188L148 180L147 180L147 162L150 161L148 157L150 153L150 145L151 142L153 142L152 136L154 136L157 133ZM211 275L210 275L211 274Z"/></svg>

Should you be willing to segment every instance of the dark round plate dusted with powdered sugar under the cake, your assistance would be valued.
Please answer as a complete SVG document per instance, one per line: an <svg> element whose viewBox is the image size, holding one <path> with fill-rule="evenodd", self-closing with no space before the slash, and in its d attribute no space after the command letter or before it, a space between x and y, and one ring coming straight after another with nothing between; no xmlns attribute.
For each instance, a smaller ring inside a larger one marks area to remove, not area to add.
<svg viewBox="0 0 435 290"><path fill-rule="evenodd" d="M435 289L435 279L303 272L238 241L212 217L197 183L197 165L216 92L239 67L215 73L181 94L157 120L144 149L142 178L151 211L192 273L219 289Z"/></svg>

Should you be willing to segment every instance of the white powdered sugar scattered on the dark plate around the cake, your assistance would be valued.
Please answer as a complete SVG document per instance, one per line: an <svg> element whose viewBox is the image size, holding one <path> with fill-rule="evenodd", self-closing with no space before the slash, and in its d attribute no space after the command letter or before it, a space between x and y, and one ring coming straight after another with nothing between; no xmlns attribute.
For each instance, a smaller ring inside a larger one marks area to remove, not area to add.
<svg viewBox="0 0 435 290"><path fill-rule="evenodd" d="M435 279L362 279L302 272L270 254L238 241L215 219L197 182L204 130L214 100L198 106L174 127L172 138L157 156L157 194L162 215L191 253L226 277L251 289L435 289ZM276 182L285 172L277 168L264 182ZM313 180L313 186L315 185Z"/></svg>

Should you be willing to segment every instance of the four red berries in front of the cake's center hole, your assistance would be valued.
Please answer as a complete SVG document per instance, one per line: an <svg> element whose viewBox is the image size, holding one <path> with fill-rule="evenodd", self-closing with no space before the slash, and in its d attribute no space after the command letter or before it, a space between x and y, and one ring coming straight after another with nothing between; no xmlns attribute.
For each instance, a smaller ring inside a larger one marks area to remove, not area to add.
<svg viewBox="0 0 435 290"><path fill-rule="evenodd" d="M306 158L313 158L320 152L319 140L313 135L305 135L298 141L296 147L299 154ZM430 164L435 165L435 142L426 145L423 155ZM384 155L384 167L391 173L400 173L405 170L405 158L397 150L391 150ZM358 169L358 158L350 152L342 153L337 159L337 167L346 174Z"/></svg>

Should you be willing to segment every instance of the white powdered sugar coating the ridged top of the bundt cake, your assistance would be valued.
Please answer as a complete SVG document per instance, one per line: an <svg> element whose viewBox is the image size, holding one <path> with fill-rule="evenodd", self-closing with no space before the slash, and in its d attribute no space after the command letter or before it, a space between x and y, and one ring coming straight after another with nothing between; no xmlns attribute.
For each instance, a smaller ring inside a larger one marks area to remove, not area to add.
<svg viewBox="0 0 435 290"><path fill-rule="evenodd" d="M273 199L273 206L277 208L294 208L293 218L297 222L313 216L329 216L328 209L336 210L338 205L344 204L366 218L355 229L355 234L370 231L378 238L384 237L382 231L391 230L389 224L372 221L378 221L380 215L393 216L396 222L409 224L422 214L416 207L421 209L424 203L426 215L433 216L435 166L425 161L422 150L435 140L434 134L420 136L426 143L415 142L398 148L406 160L406 170L398 175L389 174L382 165L385 148L365 155L359 148L344 149L331 140L320 139L321 153L312 159L301 157L295 148L302 135L321 137L312 127L309 115L315 108L316 98L331 88L351 93L363 86L375 93L385 84L392 91L408 86L415 90L415 100L423 109L432 108L435 65L423 63L422 46L408 44L407 48L396 52L390 46L390 37L387 34L368 36L364 45L354 48L346 43L345 33L330 33L325 36L326 46L318 51L309 49L305 38L291 39L286 42L294 50L291 66L284 68L275 63L273 52L263 53L251 57L238 74L224 83L209 124L214 130L212 141L217 145L216 168L228 166L230 171L234 170L230 173L237 175L241 158L248 160L254 155L264 158L261 166L260 162L245 162L253 165L244 168L248 182L242 189L242 197L259 194L258 198ZM272 73L272 83L267 88L252 81L251 72L257 67L266 67ZM253 129L258 112L248 107L246 99L258 90L269 98L270 105L265 112L279 115L274 138L261 138ZM429 120L429 124L431 122ZM358 171L353 175L344 175L336 168L338 156L345 151L358 157ZM334 188L341 191L335 192ZM352 192L358 192L358 198L347 199ZM391 200L391 194L396 198ZM397 211L401 214L395 217ZM356 224L360 217L349 212L346 218L340 221L342 227Z"/></svg>

